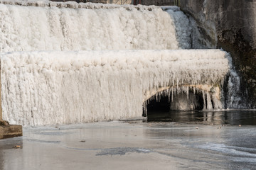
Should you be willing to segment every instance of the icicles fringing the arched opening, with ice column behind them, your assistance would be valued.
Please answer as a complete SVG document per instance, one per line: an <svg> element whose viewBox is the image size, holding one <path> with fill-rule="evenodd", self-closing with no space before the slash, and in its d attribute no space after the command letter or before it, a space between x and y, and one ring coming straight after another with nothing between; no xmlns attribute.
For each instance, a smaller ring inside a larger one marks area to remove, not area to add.
<svg viewBox="0 0 256 170"><path fill-rule="evenodd" d="M219 84L223 84L223 82ZM171 103L171 111L191 111L198 108L198 106L201 106L201 103L198 103L198 97L203 98L203 110L222 109L223 103L220 102L220 94L218 94L220 91L215 90L220 89L214 86L207 86L207 89L205 89L196 85L178 86L177 84L176 86L167 86L164 89L160 88L159 91L152 91L150 98L148 98L149 91L146 91L146 101L143 103L144 114L147 114L146 106L152 99L160 102L161 98L166 96Z"/></svg>

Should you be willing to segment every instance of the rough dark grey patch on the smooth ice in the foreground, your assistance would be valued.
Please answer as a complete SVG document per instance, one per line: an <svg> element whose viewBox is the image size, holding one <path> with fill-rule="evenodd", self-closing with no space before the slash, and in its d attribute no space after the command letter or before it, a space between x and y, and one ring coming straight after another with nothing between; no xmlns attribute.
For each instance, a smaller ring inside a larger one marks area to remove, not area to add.
<svg viewBox="0 0 256 170"><path fill-rule="evenodd" d="M101 152L97 153L97 156L102 155L124 155L131 152L137 152L137 153L150 153L152 152L150 149L144 149L144 148L138 148L138 147L114 147L114 148L108 148L108 149L102 149Z"/></svg>

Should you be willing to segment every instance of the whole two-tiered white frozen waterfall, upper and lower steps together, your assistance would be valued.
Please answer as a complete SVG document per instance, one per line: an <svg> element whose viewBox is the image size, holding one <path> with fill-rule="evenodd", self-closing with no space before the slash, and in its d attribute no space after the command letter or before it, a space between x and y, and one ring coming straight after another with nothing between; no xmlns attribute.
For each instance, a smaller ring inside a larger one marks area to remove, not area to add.
<svg viewBox="0 0 256 170"><path fill-rule="evenodd" d="M177 7L0 3L1 98L10 123L140 117L151 91L221 85L230 70L226 52L181 50L191 48L192 29Z"/></svg>

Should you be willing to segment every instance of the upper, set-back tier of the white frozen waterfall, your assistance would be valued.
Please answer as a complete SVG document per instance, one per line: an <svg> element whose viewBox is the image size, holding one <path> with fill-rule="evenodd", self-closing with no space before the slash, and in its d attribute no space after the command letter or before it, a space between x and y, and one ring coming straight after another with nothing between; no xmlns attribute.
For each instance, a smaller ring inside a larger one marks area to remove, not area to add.
<svg viewBox="0 0 256 170"><path fill-rule="evenodd" d="M65 8L65 3L28 6L22 1L10 5L14 2L0 4L0 52L166 50L190 48L191 44L189 31L178 26L184 22L175 22L156 6L70 3L73 8ZM170 13L188 20L181 11ZM183 35L182 40L178 35Z"/></svg>

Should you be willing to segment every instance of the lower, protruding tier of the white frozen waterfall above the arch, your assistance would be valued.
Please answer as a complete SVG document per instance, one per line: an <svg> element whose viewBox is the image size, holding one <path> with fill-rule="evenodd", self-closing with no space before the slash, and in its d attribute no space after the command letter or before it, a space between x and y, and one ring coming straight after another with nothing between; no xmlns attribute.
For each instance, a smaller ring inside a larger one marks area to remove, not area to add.
<svg viewBox="0 0 256 170"><path fill-rule="evenodd" d="M4 120L47 125L140 117L145 91L214 84L229 68L220 50L2 52Z"/></svg>

